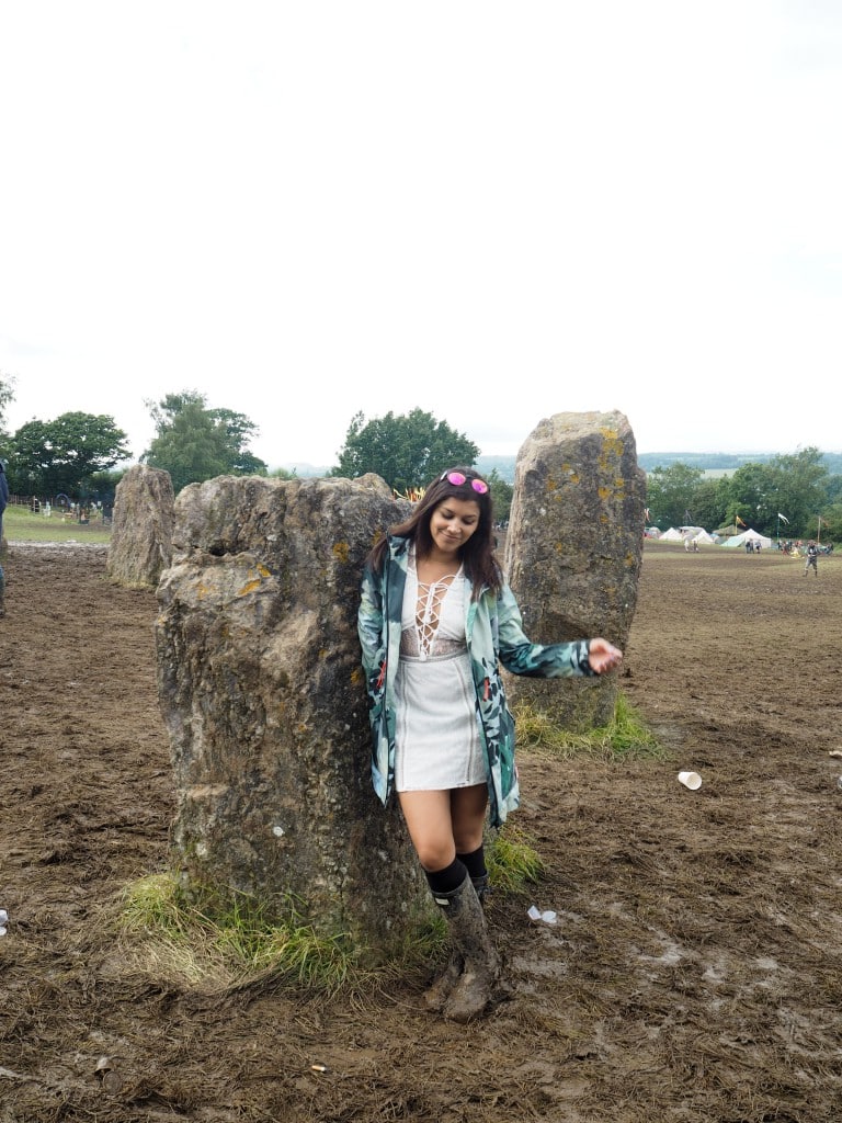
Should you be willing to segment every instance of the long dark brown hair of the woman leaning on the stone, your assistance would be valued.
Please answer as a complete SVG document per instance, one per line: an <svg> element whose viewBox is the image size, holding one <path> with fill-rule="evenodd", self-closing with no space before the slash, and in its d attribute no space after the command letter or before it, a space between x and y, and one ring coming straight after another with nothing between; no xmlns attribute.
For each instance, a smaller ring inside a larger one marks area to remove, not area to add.
<svg viewBox="0 0 842 1123"><path fill-rule="evenodd" d="M452 483L452 477L461 483ZM474 486L478 482L483 490ZM476 530L459 550L459 559L465 566L465 573L474 586L474 597L483 587L495 592L503 583L497 559L494 557L494 509L488 484L473 468L448 468L424 490L423 496L412 510L412 514L403 522L388 528L388 533L396 538L408 538L415 547L415 556L427 557L432 550L430 519L436 508L448 499L469 500L479 508L479 522ZM375 573L382 573L386 557L386 536L384 536L368 555L368 564Z"/></svg>

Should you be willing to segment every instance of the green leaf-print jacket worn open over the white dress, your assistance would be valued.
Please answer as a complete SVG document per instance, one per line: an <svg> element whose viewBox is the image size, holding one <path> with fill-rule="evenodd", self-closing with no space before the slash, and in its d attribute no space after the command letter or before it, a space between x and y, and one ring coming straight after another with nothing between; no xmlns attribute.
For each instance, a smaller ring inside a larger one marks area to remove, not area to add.
<svg viewBox="0 0 842 1123"><path fill-rule="evenodd" d="M372 723L372 780L385 804L394 788L395 676L401 649L401 613L410 540L391 537L383 573L369 566L363 575L358 614L363 669ZM567 678L593 675L588 640L532 643L523 633L520 609L505 583L498 593L484 588L473 599L465 577L465 634L476 692L476 720L488 765L488 814L500 827L520 804L514 764L514 719L506 705L500 665L515 675Z"/></svg>

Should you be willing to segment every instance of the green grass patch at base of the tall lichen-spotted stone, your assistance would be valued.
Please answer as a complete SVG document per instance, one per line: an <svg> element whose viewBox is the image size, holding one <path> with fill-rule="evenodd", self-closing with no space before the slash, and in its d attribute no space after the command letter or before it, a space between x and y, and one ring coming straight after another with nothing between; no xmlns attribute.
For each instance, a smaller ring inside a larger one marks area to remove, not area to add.
<svg viewBox="0 0 842 1123"><path fill-rule="evenodd" d="M651 758L662 760L666 754L634 706L617 693L614 715L607 725L574 733L562 729L552 714L531 705L515 707L518 743L523 750L547 754L560 759L591 756L604 760Z"/></svg>

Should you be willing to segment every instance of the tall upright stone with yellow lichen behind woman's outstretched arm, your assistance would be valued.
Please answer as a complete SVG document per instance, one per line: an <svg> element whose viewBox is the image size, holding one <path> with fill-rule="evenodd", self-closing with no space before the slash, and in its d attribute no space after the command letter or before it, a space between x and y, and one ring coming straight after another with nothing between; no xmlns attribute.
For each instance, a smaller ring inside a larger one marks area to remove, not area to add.
<svg viewBox="0 0 842 1123"><path fill-rule="evenodd" d="M604 636L625 647L643 556L646 474L626 418L556 413L518 454L505 565L537 642ZM601 678L507 676L528 701L584 731L614 712L616 674Z"/></svg>

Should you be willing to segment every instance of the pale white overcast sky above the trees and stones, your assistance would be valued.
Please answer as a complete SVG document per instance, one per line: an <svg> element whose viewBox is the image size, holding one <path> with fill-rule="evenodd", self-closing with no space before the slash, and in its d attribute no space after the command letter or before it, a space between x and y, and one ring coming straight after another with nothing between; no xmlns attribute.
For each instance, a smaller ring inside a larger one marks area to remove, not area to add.
<svg viewBox="0 0 842 1123"><path fill-rule="evenodd" d="M841 112L836 0L0 0L7 424L840 451Z"/></svg>

